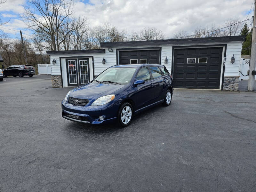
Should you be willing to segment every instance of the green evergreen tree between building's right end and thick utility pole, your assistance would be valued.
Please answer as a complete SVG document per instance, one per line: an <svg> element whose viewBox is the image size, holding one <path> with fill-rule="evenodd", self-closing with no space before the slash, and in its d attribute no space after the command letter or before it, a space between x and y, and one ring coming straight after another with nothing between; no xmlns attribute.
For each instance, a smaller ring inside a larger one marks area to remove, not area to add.
<svg viewBox="0 0 256 192"><path fill-rule="evenodd" d="M252 45L252 30L250 31L247 23L244 24L244 27L241 29L240 35L245 35L245 41L242 46L242 55L251 54L251 45Z"/></svg>

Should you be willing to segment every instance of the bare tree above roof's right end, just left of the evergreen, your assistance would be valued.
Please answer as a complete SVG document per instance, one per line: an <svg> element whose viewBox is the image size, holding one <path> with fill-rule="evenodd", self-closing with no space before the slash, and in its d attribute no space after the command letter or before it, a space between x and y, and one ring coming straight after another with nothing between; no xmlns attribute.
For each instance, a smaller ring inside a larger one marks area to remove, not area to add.
<svg viewBox="0 0 256 192"><path fill-rule="evenodd" d="M243 23L240 22L241 20L237 17L231 17L225 21L225 28L223 35L224 36L235 36L238 35L241 31ZM240 22L240 23L239 23Z"/></svg>

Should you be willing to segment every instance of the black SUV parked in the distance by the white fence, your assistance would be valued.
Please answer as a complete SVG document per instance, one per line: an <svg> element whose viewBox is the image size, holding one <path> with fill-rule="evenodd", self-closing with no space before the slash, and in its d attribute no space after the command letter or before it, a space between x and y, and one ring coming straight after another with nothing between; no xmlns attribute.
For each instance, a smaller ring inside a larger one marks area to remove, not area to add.
<svg viewBox="0 0 256 192"><path fill-rule="evenodd" d="M11 65L10 67L3 69L4 77L7 76L19 76L23 77L24 75L28 75L33 77L35 75L35 69L32 65Z"/></svg>

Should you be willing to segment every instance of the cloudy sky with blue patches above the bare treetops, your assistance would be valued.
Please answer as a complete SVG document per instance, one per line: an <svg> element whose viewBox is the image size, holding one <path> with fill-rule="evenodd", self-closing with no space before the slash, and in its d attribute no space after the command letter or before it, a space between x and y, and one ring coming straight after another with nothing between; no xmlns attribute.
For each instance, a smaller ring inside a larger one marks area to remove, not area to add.
<svg viewBox="0 0 256 192"><path fill-rule="evenodd" d="M11 37L19 36L19 32L12 30L30 34L19 18L24 10L22 4L26 4L26 0L7 0L0 7L2 20L11 19L0 29ZM90 26L105 21L127 31L150 26L161 29L165 37L172 38L180 29L191 33L196 27L212 23L224 27L224 21L230 17L245 20L252 0L74 0L74 5L75 16L86 17ZM248 18L252 17L252 10Z"/></svg>

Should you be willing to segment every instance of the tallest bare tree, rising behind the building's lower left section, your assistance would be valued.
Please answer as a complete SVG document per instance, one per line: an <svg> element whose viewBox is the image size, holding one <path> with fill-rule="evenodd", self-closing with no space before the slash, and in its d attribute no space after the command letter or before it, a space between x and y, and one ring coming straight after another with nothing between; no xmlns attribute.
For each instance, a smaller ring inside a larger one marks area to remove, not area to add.
<svg viewBox="0 0 256 192"><path fill-rule="evenodd" d="M60 50L60 44L65 39L60 39L60 28L70 22L69 16L73 14L73 1L28 0L24 9L25 12L21 17L25 20L27 27L37 33L38 37L47 37L51 50Z"/></svg>

